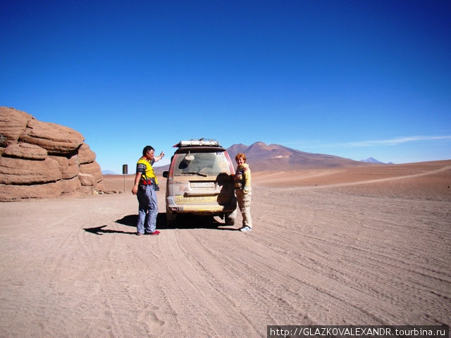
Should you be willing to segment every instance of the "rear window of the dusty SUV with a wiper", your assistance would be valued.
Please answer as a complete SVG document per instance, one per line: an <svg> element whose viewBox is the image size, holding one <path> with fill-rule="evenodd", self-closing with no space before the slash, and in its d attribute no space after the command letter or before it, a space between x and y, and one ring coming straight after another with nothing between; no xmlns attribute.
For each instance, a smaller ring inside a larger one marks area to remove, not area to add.
<svg viewBox="0 0 451 338"><path fill-rule="evenodd" d="M230 167L223 151L214 153L177 154L174 167L175 175L230 175Z"/></svg>

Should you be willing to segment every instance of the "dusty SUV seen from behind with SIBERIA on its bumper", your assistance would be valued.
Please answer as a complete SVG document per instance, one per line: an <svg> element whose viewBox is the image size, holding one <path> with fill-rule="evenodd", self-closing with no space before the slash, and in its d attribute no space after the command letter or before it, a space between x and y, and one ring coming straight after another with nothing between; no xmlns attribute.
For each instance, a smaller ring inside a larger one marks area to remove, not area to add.
<svg viewBox="0 0 451 338"><path fill-rule="evenodd" d="M178 215L219 215L234 225L237 199L230 157L217 141L192 139L175 144L166 181L166 220Z"/></svg>

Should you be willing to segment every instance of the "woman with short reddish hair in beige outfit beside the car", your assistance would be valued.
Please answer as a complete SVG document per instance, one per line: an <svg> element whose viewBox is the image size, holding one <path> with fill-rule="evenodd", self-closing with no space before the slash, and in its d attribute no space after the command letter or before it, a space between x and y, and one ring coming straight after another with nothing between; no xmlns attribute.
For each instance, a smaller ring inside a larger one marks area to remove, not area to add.
<svg viewBox="0 0 451 338"><path fill-rule="evenodd" d="M242 227L240 231L249 232L252 231L251 169L249 168L249 164L246 163L245 154L237 154L235 161L237 161L238 165L235 173L235 194L237 195L238 208L240 208L242 214Z"/></svg>

